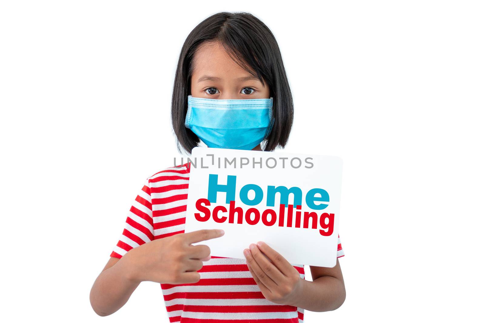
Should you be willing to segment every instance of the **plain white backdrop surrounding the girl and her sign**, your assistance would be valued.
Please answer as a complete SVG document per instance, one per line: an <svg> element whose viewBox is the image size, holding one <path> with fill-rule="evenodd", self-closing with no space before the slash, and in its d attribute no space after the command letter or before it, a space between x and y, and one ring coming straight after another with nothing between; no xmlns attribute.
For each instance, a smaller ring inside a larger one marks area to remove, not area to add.
<svg viewBox="0 0 485 323"><path fill-rule="evenodd" d="M285 151L343 159L347 299L305 322L483 319L484 7L334 2L2 1L1 315L168 322L156 283L108 317L89 291L146 177L179 156L186 36L249 11L290 80Z"/></svg>

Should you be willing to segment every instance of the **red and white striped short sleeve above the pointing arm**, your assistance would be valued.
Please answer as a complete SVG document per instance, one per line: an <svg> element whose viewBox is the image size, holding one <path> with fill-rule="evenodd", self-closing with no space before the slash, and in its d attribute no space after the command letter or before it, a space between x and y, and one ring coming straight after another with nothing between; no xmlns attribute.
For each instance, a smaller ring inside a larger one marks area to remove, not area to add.
<svg viewBox="0 0 485 323"><path fill-rule="evenodd" d="M123 233L114 246L111 257L121 258L132 248L141 246L153 239L152 200L150 183L147 178L131 204Z"/></svg>

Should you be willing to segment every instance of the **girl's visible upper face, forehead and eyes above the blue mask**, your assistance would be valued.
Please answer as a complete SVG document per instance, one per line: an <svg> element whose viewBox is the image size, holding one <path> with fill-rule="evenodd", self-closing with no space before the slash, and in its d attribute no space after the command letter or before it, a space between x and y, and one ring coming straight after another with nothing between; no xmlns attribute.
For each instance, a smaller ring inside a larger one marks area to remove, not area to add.
<svg viewBox="0 0 485 323"><path fill-rule="evenodd" d="M268 85L242 69L219 44L201 46L194 56L191 95L210 99L269 99Z"/></svg>

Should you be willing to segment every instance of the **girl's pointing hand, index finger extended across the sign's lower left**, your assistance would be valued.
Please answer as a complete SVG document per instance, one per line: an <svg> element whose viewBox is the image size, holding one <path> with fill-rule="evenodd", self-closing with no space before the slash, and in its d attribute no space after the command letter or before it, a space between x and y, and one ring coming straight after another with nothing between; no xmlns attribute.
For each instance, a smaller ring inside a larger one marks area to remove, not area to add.
<svg viewBox="0 0 485 323"><path fill-rule="evenodd" d="M135 282L191 284L200 279L202 261L210 260L210 248L192 243L218 238L222 230L198 230L156 239L129 250L121 259L125 273Z"/></svg>

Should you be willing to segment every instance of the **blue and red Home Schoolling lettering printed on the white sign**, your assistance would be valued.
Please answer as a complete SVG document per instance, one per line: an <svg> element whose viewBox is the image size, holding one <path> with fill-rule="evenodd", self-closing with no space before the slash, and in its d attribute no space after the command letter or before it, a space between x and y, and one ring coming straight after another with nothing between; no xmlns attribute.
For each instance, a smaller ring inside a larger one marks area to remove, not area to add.
<svg viewBox="0 0 485 323"><path fill-rule="evenodd" d="M302 215L302 198L303 192L299 187L286 187L286 186L269 186L267 188L266 206L275 206L276 193L280 195L279 213L276 214L273 209L266 209L262 213L257 208L250 207L247 210L242 209L240 206L235 205L236 197L236 176L227 175L227 184L218 184L218 175L209 174L209 187L207 199L201 198L195 202L195 208L201 213L194 213L197 221L205 222L212 217L217 223L234 223L236 220L238 224L242 224L244 220L247 224L256 225L261 221L264 225L271 227L278 222L278 226L292 227L293 216L295 228L308 229L311 225L311 229L317 229L319 225L321 229L319 232L323 236L330 236L334 230L334 217L333 213L320 213L320 212L303 212ZM254 191L254 198L251 200L248 197L249 191ZM217 193L226 193L226 206L216 205L213 207L212 212L206 206L211 206L211 203L216 203ZM288 204L289 195L293 194L293 205ZM263 200L263 190L261 187L255 184L247 184L242 186L239 192L239 198L245 205L254 206L258 205ZM305 202L308 208L312 210L323 210L328 206L330 198L327 191L322 188L310 189L306 196ZM227 204L229 207L227 207ZM293 214L294 212L294 214ZM286 217L286 221L285 221ZM235 219L236 218L236 219ZM311 222L311 224L310 224Z"/></svg>

